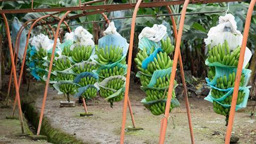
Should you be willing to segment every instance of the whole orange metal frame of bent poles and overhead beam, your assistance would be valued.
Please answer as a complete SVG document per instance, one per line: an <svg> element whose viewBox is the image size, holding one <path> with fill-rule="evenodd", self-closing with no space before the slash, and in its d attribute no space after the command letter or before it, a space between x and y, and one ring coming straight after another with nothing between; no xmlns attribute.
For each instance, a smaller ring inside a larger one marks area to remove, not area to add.
<svg viewBox="0 0 256 144"><path fill-rule="evenodd" d="M95 2L95 1L97 1L97 0L94 0L92 2ZM102 1L102 0L98 0L98 1ZM189 3L231 2L231 1L236 1L236 0L209 0L209 1L200 1L200 0L198 0L198 1L191 1L191 2L189 0L175 0L175 1L166 1L166 2L164 2L164 1L162 1L162 2L150 2L150 3L141 3L141 1L142 0L138 0L138 2L136 4L94 5L94 6L88 6L88 5L81 6L81 5L79 5L79 6L76 6L76 7L57 7L57 8L47 8L47 9L0 10L0 13L1 13L1 15L4 19L4 23L5 23L5 27L6 27L6 35L7 35L8 42L9 42L10 56L11 56L11 62L12 62L12 70L13 70L13 72L16 71L15 62L17 62L17 61L14 61L14 54L13 54L12 43L11 43L10 29L9 29L7 19L5 17L5 13L46 12L46 11L51 12L51 11L66 11L66 10L69 10L59 20L57 30L55 31L54 45L53 45L53 49L52 49L52 53L54 53L55 52L55 47L56 47L56 44L57 44L57 38L58 38L58 35L59 35L59 30L60 30L61 23L64 20L70 18L70 17L68 17L68 14L71 11L81 10L81 9L82 10L95 10L95 11L92 11L92 12L83 13L83 15L86 15L86 14L103 13L103 12L106 12L106 11L118 11L118 10L126 10L126 9L133 9L134 8L134 13L133 13L133 17L132 17L132 25L131 25L131 37L130 37L128 67L127 67L125 96L124 96L124 107L123 107L123 121L122 121L122 129L121 129L121 143L124 143L124 134L125 134L124 128L125 128L125 121L126 121L126 110L127 110L127 105L129 105L129 103L130 103L128 94L129 94L129 85L130 85L130 73L131 73L131 60L132 60L134 28L135 28L135 20L136 20L137 11L140 7L146 7L147 8L147 7L166 6L167 11L169 12L169 14L171 16L176 44L175 44L175 52L174 52L174 58L173 58L172 73L171 73L171 78L170 78L169 92L168 92L168 95L167 95L165 115L164 115L164 117L162 118L162 121L161 121L159 143L162 144L162 143L164 143L164 140L165 140L167 120L169 118L169 109L170 109L170 103L171 103L171 99L172 99L171 93L172 93L173 86L174 86L174 78L175 78L175 72L176 72L175 69L177 68L178 59L179 59L180 68L181 68L182 84L184 86L186 108L187 108L189 128L190 128L190 136L191 136L191 143L194 143L195 140L194 140L194 134L193 134L193 129L192 129L192 125L191 125L191 117L190 117L190 112L189 112L189 103L188 103L188 97L187 97L186 82L185 82L185 77L184 77L184 73L183 73L182 59L181 59L181 54L180 54L180 43L181 43L182 29L183 29L183 25L184 25L184 22L185 22L185 15L186 15L186 10L187 10L187 5ZM244 36L243 36L243 42L242 42L242 46L241 46L241 53L240 53L240 57L239 57L239 61L238 61L236 80L235 80L235 86L234 86L234 92L233 92L233 99L232 99L232 102L231 102L231 108L230 108L230 115L229 115L229 121L228 121L228 126L227 126L225 144L228 144L230 142L231 131L232 131L233 122L234 122L234 115L235 115L235 107L236 107L236 101L237 101L239 82L241 80L241 74L242 74L242 65L243 65L243 61L244 61L245 47L246 47L247 37L248 37L248 34L249 34L250 22L251 22L251 17L252 17L252 12L253 12L253 7L255 5L255 1L256 0L251 1L250 6L249 6L249 10L248 10L247 16L246 16ZM180 17L178 34L177 34L177 29L176 29L176 25L175 25L173 15L171 15L171 13L172 13L171 9L170 9L169 6L167 6L167 5L176 5L176 4L183 4L181 17ZM98 9L100 9L100 10L98 10ZM46 17L50 17L50 16L52 16L52 15L51 14L44 15L43 17L38 18L37 20L34 21L32 26L30 27L29 34L28 34L28 37L27 37L26 49L25 49L23 58L26 58L26 50L27 50L28 39L29 39L29 35L30 35L31 30L33 29L33 27L36 25L36 23L39 20L41 20L43 18L46 18ZM76 17L79 17L79 15L76 16ZM106 19L106 21L109 21L109 20ZM18 39L19 38L17 38L17 40ZM14 49L15 49L15 47L14 47ZM17 50L18 50L18 48L17 48ZM46 101L46 97L47 97L47 90L48 90L48 87L49 87L49 81L50 81L53 59L54 59L54 55L52 54L51 61L50 61L50 66L49 66L49 73L48 73L47 81L46 81L46 85L45 85L43 105L42 105L42 109L41 109L41 115L40 115L40 118L39 118L37 134L39 134L40 129L41 129L41 124L42 124L43 113L44 113L44 108L45 108L45 101ZM19 117L20 117L20 121L21 121L22 132L24 132L24 130L23 130L22 111L21 111L21 105L20 105L19 86L20 86L20 81L21 81L20 79L21 79L21 76L22 76L23 66L25 64L24 61L25 60L22 61L22 67L21 67L20 77L19 77L19 84L18 84L18 81L17 81L18 79L17 79L16 73L12 73L13 77L14 77L14 85L15 85L15 91L16 91L15 99L17 99L17 101L18 101ZM131 105L129 105L129 108L130 107L131 107ZM132 116L132 111L130 111L130 113L131 113L131 116ZM135 123L134 123L134 126L135 126Z"/></svg>

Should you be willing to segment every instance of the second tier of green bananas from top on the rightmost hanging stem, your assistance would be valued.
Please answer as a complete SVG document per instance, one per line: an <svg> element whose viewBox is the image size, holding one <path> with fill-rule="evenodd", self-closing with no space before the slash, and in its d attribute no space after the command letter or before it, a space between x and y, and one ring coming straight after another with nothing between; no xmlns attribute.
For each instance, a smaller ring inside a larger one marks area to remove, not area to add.
<svg viewBox="0 0 256 144"><path fill-rule="evenodd" d="M226 75L224 75L223 77L218 77L216 87L218 87L219 89L228 89L229 87L234 87L235 79L236 79L235 71L233 71L233 73L230 73L228 77ZM242 74L239 86L244 85L244 83L245 83L245 76L244 74Z"/></svg>

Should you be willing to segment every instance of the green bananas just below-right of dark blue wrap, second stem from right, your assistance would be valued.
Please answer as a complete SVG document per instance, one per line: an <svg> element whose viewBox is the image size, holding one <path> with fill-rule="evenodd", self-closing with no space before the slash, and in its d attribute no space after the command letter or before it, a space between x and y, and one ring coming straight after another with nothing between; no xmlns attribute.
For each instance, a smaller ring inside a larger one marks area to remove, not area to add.
<svg viewBox="0 0 256 144"><path fill-rule="evenodd" d="M170 59L166 52L159 52L156 54L156 57L157 58L154 58L154 61L148 63L149 73L153 74L155 70L172 67L173 60Z"/></svg>

